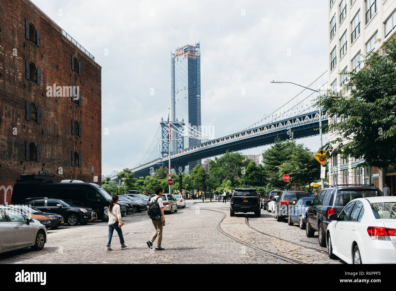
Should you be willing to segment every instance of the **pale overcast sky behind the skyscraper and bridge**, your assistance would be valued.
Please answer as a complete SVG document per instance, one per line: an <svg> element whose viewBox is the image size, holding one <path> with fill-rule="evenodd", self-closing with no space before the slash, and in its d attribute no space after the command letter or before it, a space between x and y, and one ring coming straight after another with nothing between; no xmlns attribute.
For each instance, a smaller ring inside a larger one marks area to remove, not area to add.
<svg viewBox="0 0 396 291"><path fill-rule="evenodd" d="M327 70L328 1L32 2L102 66L102 133L109 128L102 174L135 166L168 118L175 47L200 42L202 125L215 136L258 121L301 91L269 81L307 86ZM299 142L320 146L318 136Z"/></svg>

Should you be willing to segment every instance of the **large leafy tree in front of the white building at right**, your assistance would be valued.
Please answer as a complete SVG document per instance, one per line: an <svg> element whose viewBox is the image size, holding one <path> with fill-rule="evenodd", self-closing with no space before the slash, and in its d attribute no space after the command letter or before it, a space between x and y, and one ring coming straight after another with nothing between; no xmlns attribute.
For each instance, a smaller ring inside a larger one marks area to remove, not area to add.
<svg viewBox="0 0 396 291"><path fill-rule="evenodd" d="M324 146L328 156L363 156L366 164L385 167L396 165L396 40L382 46L383 54L369 53L359 71L348 73L350 96L327 91L318 98L329 117L342 117L329 125L339 138Z"/></svg>

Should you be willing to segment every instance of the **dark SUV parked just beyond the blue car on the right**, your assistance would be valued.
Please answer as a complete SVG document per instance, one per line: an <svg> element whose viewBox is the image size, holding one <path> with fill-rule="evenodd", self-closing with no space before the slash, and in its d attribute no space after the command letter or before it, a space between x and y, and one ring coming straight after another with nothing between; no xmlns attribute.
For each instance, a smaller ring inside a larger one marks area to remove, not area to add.
<svg viewBox="0 0 396 291"><path fill-rule="evenodd" d="M298 190L286 190L279 195L274 205L274 217L276 221L282 221L289 216L291 206L297 203L300 198L310 197L310 193Z"/></svg>

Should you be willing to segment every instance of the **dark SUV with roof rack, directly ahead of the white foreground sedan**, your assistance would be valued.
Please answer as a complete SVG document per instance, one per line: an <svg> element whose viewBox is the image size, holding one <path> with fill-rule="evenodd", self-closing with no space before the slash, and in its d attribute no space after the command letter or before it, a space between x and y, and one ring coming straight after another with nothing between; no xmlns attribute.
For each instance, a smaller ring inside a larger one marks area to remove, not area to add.
<svg viewBox="0 0 396 291"><path fill-rule="evenodd" d="M308 202L310 206L307 212L307 227L305 232L308 238L318 231L320 246L326 246L327 225L331 222L330 214L341 213L344 206L355 198L383 196L381 191L374 185L341 184L329 186L319 191L314 201Z"/></svg>

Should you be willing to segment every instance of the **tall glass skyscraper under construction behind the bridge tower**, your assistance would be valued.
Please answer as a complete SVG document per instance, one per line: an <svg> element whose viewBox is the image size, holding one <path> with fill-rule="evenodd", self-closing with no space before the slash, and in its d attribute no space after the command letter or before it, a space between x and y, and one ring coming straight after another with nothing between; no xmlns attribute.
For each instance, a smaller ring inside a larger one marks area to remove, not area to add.
<svg viewBox="0 0 396 291"><path fill-rule="evenodd" d="M200 43L186 44L171 52L171 121L184 119L186 132L197 136L201 128L201 51ZM199 139L185 138L185 148L200 143ZM177 149L176 149L177 151ZM190 161L191 170L200 161Z"/></svg>

